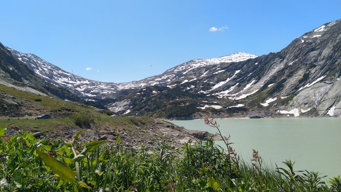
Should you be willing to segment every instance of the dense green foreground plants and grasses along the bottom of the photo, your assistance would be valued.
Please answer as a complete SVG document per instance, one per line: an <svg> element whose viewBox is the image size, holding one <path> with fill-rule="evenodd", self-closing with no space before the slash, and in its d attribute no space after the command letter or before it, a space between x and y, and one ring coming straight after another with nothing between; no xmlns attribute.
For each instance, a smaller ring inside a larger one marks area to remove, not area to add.
<svg viewBox="0 0 341 192"><path fill-rule="evenodd" d="M212 127L218 125L206 121ZM294 171L294 163L271 170L253 151L240 160L224 138L227 151L212 139L185 144L176 151L165 143L136 152L105 141L39 140L20 132L9 137L0 128L0 191L227 191L340 192L341 179L324 181L319 173Z"/></svg>

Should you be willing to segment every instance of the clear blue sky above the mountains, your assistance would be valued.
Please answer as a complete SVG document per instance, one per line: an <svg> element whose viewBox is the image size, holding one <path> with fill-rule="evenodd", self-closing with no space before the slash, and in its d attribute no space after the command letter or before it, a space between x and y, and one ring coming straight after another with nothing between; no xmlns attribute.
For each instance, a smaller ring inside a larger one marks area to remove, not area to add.
<svg viewBox="0 0 341 192"><path fill-rule="evenodd" d="M341 0L11 0L0 10L2 44L82 77L127 82L192 58L280 51L341 19Z"/></svg>

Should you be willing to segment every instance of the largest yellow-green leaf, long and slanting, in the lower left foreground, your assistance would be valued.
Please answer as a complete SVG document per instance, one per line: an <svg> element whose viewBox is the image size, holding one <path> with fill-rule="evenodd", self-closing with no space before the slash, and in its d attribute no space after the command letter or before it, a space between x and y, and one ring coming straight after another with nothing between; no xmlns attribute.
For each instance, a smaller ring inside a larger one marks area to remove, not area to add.
<svg viewBox="0 0 341 192"><path fill-rule="evenodd" d="M53 171L53 173L57 174L62 178L63 181L73 183L78 185L78 182L75 178L75 173L72 171L70 167L65 165L63 162L58 161L53 156L49 154L45 154L38 149L36 149L37 154L40 158L46 163L46 165Z"/></svg>

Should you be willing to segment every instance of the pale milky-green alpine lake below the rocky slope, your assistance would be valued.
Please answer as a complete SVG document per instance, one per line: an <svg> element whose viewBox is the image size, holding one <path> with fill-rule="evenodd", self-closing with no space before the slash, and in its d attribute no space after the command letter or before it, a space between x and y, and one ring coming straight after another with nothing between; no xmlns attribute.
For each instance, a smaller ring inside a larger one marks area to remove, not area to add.
<svg viewBox="0 0 341 192"><path fill-rule="evenodd" d="M266 166L283 167L294 161L295 171L314 171L328 177L341 175L341 118L261 118L215 119L223 135L231 135L233 149L251 162L252 149L259 152ZM171 120L186 129L217 133L203 119ZM223 141L215 141L221 147Z"/></svg>

